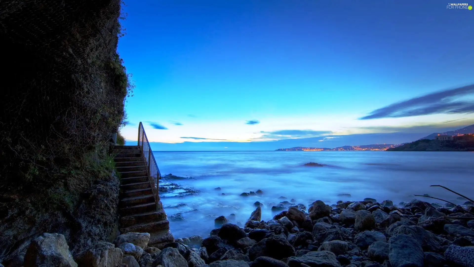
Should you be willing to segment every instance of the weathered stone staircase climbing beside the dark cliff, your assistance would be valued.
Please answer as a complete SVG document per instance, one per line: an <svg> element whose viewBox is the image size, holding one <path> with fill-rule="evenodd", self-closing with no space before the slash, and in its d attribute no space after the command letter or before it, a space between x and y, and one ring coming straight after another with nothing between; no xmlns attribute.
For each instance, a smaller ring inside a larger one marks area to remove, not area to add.
<svg viewBox="0 0 474 267"><path fill-rule="evenodd" d="M120 173L120 233L150 233L148 247L162 248L174 242L159 196L157 201L153 196L140 147L116 145L113 153Z"/></svg>

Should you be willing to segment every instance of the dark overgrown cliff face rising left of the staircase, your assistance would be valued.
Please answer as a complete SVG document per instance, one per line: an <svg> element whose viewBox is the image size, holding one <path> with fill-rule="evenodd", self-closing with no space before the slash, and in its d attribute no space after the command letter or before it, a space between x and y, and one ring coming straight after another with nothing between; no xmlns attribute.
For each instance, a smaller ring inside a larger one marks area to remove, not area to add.
<svg viewBox="0 0 474 267"><path fill-rule="evenodd" d="M119 0L0 1L0 262L43 232L77 253L117 229L110 136L128 76Z"/></svg>

